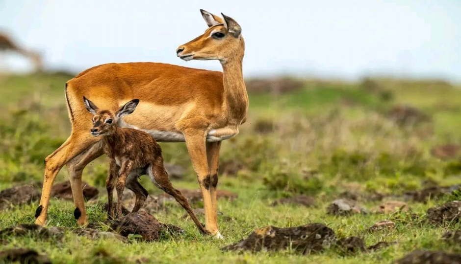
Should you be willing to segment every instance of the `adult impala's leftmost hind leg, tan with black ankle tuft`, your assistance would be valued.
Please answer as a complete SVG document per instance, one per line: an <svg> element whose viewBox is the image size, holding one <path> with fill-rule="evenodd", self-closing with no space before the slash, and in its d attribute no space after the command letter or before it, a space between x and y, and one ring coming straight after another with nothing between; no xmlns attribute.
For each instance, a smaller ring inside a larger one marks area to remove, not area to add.
<svg viewBox="0 0 461 264"><path fill-rule="evenodd" d="M78 154L90 148L94 143L98 141L99 141L99 138L92 136L90 133L88 134L73 133L66 140L66 142L64 142L64 144L61 145L61 147L55 150L51 155L47 156L47 158L45 159L45 176L43 180L42 197L40 198L40 205L35 211L35 218L36 218L35 223L36 224L45 225L46 223L48 205L49 205L50 198L51 198L51 189L53 186L54 179L56 178L56 175L58 174L58 172L61 170L61 168L66 163L71 161ZM74 188L75 187L72 186L73 191L74 191ZM80 192L83 196L83 192L81 190L81 182L80 182L80 188L76 192L77 193ZM75 199L75 193L74 193L74 199Z"/></svg>

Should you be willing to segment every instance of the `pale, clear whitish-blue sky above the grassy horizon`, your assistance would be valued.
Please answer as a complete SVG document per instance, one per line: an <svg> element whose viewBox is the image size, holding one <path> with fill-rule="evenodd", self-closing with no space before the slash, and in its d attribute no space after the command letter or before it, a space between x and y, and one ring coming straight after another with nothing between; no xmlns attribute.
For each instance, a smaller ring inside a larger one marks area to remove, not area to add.
<svg viewBox="0 0 461 264"><path fill-rule="evenodd" d="M200 8L241 25L246 77L461 81L461 0L0 0L0 29L42 50L51 69L150 61L220 70L217 61L176 57L206 29ZM1 58L28 67L19 56Z"/></svg>

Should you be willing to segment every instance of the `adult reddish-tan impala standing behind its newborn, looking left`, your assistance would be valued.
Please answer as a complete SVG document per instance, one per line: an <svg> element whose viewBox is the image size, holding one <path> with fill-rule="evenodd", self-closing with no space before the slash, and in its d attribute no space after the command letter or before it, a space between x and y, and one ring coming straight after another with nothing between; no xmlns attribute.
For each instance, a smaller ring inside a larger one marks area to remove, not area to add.
<svg viewBox="0 0 461 264"><path fill-rule="evenodd" d="M66 83L66 100L72 123L70 137L45 159L45 176L36 223L47 218L51 187L66 165L79 225L87 223L81 189L83 168L102 155L102 141L89 133L91 114L83 96L104 109L117 110L137 98L136 111L120 126L150 133L158 142L185 142L202 191L205 229L222 238L218 230L216 185L221 141L238 133L246 121L248 95L243 81L245 44L240 25L200 10L208 29L179 46L184 61L218 60L223 72L162 63L104 64L87 69Z"/></svg>

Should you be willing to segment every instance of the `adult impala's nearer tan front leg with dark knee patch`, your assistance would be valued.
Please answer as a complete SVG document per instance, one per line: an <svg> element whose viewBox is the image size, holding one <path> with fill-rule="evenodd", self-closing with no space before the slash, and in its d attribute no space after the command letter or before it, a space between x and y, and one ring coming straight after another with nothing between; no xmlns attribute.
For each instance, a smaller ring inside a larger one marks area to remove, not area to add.
<svg viewBox="0 0 461 264"><path fill-rule="evenodd" d="M204 201L205 209L205 229L211 235L217 238L222 238L218 230L218 223L216 220L216 212L213 212L213 205L211 203L210 186L211 176L208 167L208 160L206 158L205 146L205 132L204 131L188 131L184 133L186 140L187 151L189 152L192 166L197 174L197 180L200 184L202 191L202 198Z"/></svg>

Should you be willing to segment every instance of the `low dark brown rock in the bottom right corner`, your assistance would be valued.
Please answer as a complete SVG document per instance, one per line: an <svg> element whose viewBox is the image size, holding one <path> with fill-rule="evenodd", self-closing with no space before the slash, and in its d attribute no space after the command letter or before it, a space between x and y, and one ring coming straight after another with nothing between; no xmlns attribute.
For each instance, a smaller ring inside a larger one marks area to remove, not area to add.
<svg viewBox="0 0 461 264"><path fill-rule="evenodd" d="M460 254L450 254L442 251L415 250L394 264L455 264L461 263Z"/></svg>

